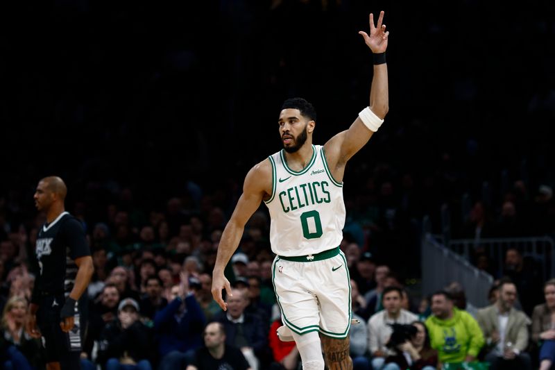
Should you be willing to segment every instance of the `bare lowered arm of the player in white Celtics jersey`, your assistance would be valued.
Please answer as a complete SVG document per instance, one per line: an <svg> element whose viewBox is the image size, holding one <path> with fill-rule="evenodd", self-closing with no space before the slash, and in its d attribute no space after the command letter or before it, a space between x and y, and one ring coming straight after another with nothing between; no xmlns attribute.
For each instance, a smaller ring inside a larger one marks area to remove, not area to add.
<svg viewBox="0 0 555 370"><path fill-rule="evenodd" d="M223 301L221 291L225 289L228 294L231 294L231 287L229 280L223 275L223 270L239 246L248 219L259 208L262 199L271 195L271 188L272 167L269 160L264 160L248 171L243 185L243 194L221 235L216 264L212 272L212 296L224 311L227 310L227 303Z"/></svg>

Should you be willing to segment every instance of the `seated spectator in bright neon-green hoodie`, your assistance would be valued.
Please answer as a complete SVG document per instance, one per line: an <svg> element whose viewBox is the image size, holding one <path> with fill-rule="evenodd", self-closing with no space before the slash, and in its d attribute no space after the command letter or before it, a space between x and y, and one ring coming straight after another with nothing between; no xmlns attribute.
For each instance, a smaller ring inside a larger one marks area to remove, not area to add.
<svg viewBox="0 0 555 370"><path fill-rule="evenodd" d="M432 348L439 362L473 362L484 346L484 335L477 321L466 311L454 307L449 293L432 295L432 315L426 320Z"/></svg>

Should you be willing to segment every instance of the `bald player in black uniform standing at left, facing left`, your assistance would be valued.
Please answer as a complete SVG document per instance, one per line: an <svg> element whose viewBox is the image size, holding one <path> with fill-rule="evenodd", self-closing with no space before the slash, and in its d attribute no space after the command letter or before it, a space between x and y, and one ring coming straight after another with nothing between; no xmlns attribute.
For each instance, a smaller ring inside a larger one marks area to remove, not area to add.
<svg viewBox="0 0 555 370"><path fill-rule="evenodd" d="M47 370L80 368L77 301L93 273L83 225L65 212L66 194L64 181L51 176L40 180L34 196L37 209L46 213L46 223L37 235L39 271L27 330L33 337L42 336Z"/></svg>

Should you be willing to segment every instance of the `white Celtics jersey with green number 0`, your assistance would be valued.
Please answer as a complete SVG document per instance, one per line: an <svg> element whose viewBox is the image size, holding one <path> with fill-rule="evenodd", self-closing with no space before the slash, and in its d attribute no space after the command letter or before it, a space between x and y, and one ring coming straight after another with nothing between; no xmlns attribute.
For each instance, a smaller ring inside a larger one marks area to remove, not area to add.
<svg viewBox="0 0 555 370"><path fill-rule="evenodd" d="M327 167L323 146L313 145L302 171L287 167L284 151L270 155L270 211L273 253L285 257L316 254L339 246L345 225L343 185Z"/></svg>

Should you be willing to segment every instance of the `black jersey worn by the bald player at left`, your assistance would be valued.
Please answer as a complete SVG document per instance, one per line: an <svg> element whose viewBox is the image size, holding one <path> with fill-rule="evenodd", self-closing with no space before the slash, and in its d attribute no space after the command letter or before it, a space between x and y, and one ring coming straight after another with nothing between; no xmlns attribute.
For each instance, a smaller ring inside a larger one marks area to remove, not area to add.
<svg viewBox="0 0 555 370"><path fill-rule="evenodd" d="M62 212L51 224L40 228L35 254L39 271L34 290L42 294L64 292L68 296L77 275L76 258L91 254L83 224L68 212Z"/></svg>

